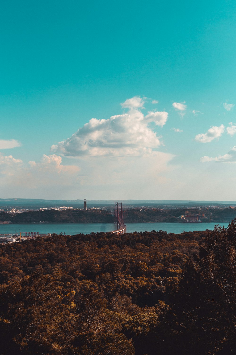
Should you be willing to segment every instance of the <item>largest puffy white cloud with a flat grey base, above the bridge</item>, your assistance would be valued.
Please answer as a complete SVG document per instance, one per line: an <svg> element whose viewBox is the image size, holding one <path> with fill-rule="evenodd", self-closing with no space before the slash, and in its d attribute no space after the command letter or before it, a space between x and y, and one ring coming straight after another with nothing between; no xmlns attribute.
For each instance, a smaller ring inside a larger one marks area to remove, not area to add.
<svg viewBox="0 0 236 355"><path fill-rule="evenodd" d="M140 156L152 152L161 142L150 122L158 126L166 123L167 112L152 112L144 116L140 111L142 99L134 97L122 104L128 113L105 120L92 118L70 138L51 147L51 150L68 157Z"/></svg>

